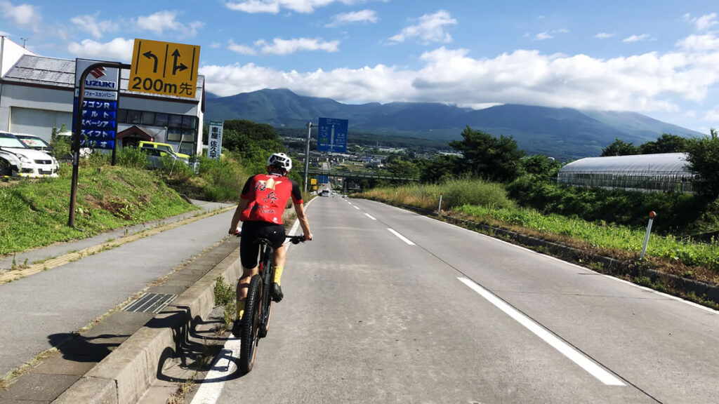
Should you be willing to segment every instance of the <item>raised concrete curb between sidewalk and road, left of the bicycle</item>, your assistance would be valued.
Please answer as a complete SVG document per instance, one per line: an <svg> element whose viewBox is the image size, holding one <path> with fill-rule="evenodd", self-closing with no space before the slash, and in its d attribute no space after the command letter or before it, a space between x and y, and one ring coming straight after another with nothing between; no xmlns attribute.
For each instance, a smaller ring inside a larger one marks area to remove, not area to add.
<svg viewBox="0 0 719 404"><path fill-rule="evenodd" d="M216 278L223 277L225 283L234 285L240 275L242 266L236 249L53 403L137 403L155 382L165 359L179 356L195 324L214 308Z"/></svg>

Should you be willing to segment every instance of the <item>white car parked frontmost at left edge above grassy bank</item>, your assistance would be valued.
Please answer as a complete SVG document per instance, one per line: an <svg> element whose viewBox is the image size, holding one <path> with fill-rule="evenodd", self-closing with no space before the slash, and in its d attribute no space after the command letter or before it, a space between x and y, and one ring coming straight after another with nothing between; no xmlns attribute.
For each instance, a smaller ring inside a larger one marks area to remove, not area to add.
<svg viewBox="0 0 719 404"><path fill-rule="evenodd" d="M0 175L56 178L59 167L55 157L32 150L12 133L0 132Z"/></svg>

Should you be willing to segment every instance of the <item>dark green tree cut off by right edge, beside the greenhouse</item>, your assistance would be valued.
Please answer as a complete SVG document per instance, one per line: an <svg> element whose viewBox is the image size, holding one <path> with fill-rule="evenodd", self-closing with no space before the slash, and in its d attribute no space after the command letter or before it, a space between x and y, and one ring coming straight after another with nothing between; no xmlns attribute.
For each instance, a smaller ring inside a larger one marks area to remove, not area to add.
<svg viewBox="0 0 719 404"><path fill-rule="evenodd" d="M700 175L697 192L710 199L719 197L719 133L710 129L710 136L694 137L687 142L687 161L691 170Z"/></svg>

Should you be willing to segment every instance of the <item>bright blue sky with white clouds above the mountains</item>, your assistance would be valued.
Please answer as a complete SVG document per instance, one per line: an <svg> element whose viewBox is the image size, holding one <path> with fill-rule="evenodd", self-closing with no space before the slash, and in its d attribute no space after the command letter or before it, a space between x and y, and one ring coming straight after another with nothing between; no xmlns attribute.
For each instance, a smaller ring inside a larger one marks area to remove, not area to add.
<svg viewBox="0 0 719 404"><path fill-rule="evenodd" d="M38 55L130 63L134 39L201 48L218 96L635 111L719 128L717 0L0 0Z"/></svg>

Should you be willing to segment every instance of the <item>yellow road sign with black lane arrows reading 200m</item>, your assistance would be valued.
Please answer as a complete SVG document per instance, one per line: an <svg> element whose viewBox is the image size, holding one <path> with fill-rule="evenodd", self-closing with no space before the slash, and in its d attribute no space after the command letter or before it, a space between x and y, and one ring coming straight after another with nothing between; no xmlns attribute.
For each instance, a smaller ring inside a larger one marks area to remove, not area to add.
<svg viewBox="0 0 719 404"><path fill-rule="evenodd" d="M199 60L199 46L136 39L127 90L193 98Z"/></svg>

